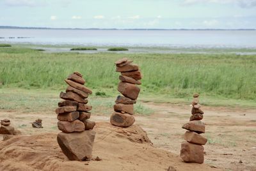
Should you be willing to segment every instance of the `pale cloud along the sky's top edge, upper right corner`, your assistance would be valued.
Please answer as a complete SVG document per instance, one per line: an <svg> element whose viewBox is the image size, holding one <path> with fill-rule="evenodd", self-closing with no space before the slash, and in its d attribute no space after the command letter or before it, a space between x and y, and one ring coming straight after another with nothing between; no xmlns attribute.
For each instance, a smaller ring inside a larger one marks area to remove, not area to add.
<svg viewBox="0 0 256 171"><path fill-rule="evenodd" d="M237 4L242 8L252 8L256 6L256 0L183 0L182 5L194 5L194 4Z"/></svg>

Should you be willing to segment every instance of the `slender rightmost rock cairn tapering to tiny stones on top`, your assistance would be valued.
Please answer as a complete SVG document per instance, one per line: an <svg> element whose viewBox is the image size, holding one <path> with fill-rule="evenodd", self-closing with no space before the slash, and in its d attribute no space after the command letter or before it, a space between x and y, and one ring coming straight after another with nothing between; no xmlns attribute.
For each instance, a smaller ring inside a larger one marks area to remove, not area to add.
<svg viewBox="0 0 256 171"><path fill-rule="evenodd" d="M207 138L202 137L201 133L205 133L205 124L201 121L204 112L200 109L199 94L193 95L191 117L189 122L184 124L182 128L188 130L184 134L184 140L180 149L180 158L188 163L204 163L204 147Z"/></svg>

